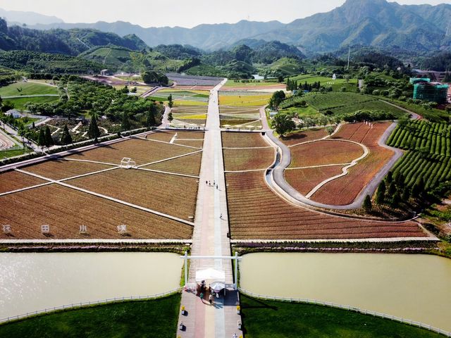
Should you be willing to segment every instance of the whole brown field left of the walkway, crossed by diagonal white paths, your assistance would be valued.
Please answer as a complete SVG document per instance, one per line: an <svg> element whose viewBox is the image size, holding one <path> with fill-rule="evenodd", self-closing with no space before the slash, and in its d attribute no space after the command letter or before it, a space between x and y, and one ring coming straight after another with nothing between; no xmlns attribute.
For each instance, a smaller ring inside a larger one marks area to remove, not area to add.
<svg viewBox="0 0 451 338"><path fill-rule="evenodd" d="M202 142L204 133L186 131L180 137ZM140 168L120 168L123 157ZM11 225L12 235L2 232L0 238L120 239L116 227L125 224L125 238L190 239L201 159L202 149L128 139L29 165L23 173L2 173L0 193L11 193L0 196L0 225ZM50 225L49 235L41 233L41 225ZM80 225L88 234L79 233Z"/></svg>

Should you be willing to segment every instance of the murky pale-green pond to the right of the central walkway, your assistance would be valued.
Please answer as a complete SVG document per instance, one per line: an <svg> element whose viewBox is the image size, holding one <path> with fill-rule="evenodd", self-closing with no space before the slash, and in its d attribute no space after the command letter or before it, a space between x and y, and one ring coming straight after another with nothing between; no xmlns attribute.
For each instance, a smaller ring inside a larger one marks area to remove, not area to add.
<svg viewBox="0 0 451 338"><path fill-rule="evenodd" d="M250 253L240 285L257 294L332 301L451 331L451 259L375 253Z"/></svg>

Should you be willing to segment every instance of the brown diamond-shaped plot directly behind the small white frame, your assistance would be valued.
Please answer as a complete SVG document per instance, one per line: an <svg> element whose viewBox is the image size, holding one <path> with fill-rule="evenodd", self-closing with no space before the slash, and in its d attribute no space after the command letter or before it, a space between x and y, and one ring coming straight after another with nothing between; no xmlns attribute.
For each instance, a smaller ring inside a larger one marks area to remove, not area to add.
<svg viewBox="0 0 451 338"><path fill-rule="evenodd" d="M127 141L83 151L68 156L68 158L121 164L121 160L124 157L128 157L132 158L137 165L142 165L154 161L161 161L165 158L188 154L193 150L194 149L185 148L184 146L152 142L145 139L129 139Z"/></svg>

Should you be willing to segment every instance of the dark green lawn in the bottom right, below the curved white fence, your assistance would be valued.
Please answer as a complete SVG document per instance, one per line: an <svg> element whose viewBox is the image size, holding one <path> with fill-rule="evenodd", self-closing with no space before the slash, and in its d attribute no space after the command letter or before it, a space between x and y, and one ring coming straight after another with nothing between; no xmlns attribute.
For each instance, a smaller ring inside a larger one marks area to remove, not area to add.
<svg viewBox="0 0 451 338"><path fill-rule="evenodd" d="M247 338L443 337L410 325L326 306L262 301L244 295L240 299Z"/></svg>

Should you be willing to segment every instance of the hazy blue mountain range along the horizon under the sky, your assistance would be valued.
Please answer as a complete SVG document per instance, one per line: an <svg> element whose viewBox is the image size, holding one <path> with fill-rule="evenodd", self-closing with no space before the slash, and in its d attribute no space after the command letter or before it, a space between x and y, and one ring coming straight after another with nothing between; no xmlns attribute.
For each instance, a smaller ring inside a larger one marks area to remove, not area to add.
<svg viewBox="0 0 451 338"><path fill-rule="evenodd" d="M304 53L322 53L343 46L395 47L409 51L451 49L451 4L400 5L386 0L347 0L327 13L292 23L242 20L235 24L198 25L193 28L144 28L123 21L106 23L39 23L39 30L91 28L118 35L137 35L147 45L189 44L207 51L240 44L240 40L280 41Z"/></svg>

